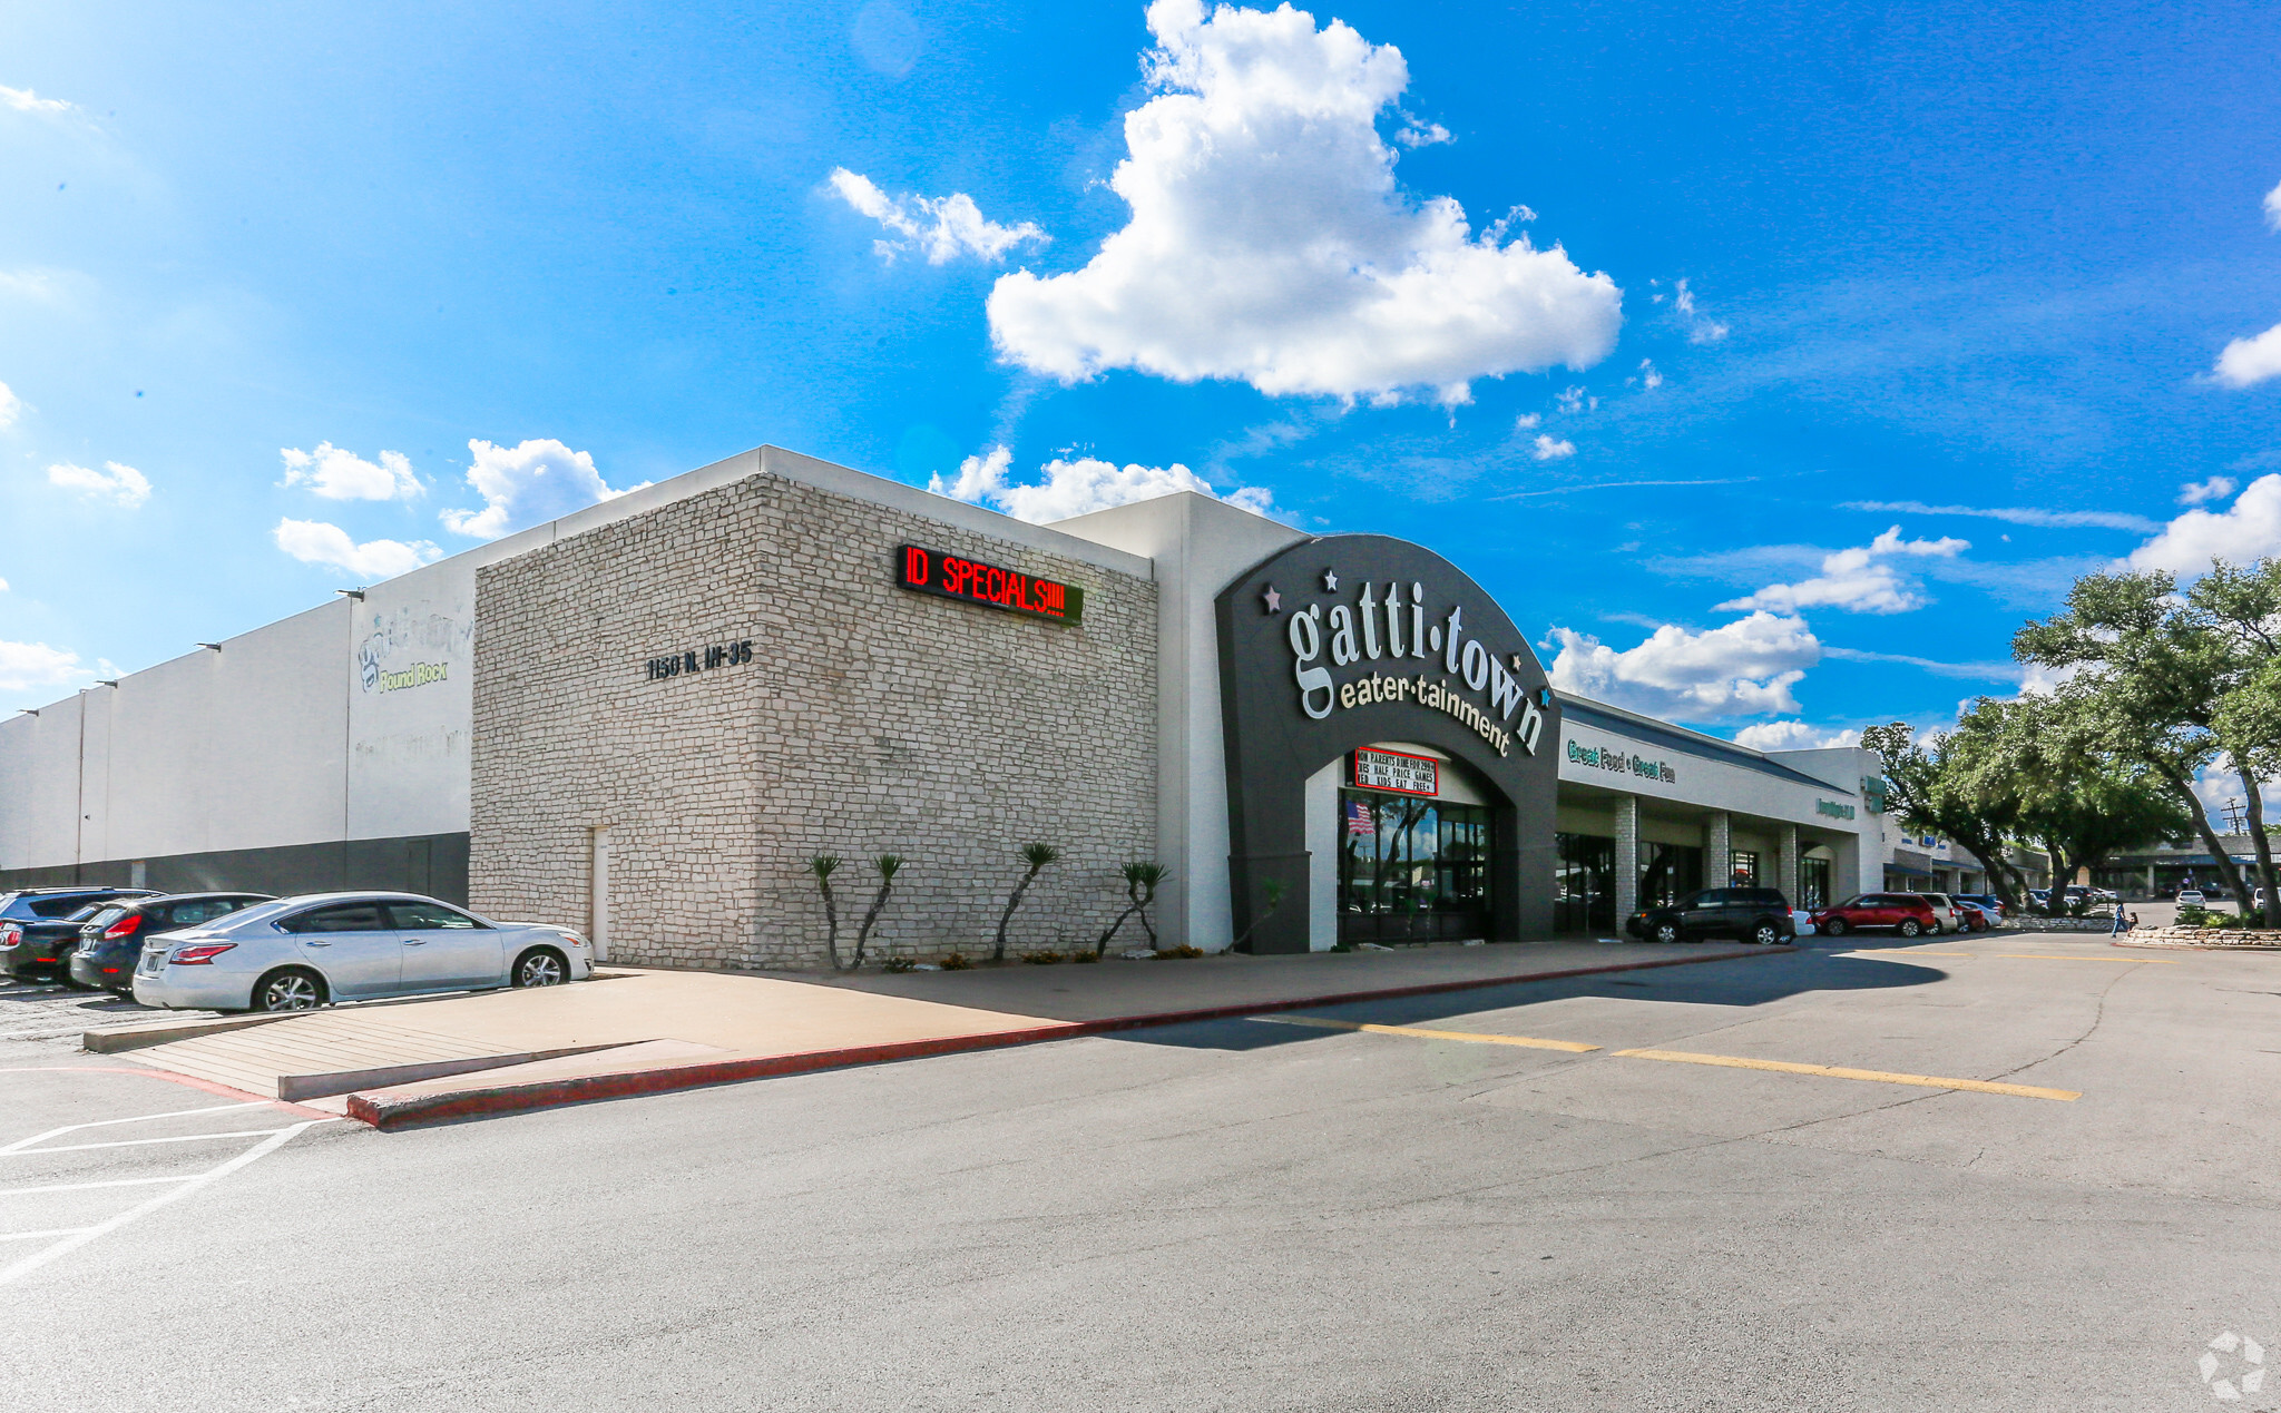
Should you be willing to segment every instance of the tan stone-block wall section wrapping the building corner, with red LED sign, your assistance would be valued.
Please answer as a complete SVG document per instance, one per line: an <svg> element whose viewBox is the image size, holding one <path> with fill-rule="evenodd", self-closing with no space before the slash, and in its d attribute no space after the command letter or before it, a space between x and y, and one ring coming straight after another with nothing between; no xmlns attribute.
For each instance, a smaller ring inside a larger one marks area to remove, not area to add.
<svg viewBox="0 0 2281 1413"><path fill-rule="evenodd" d="M1079 583L1086 620L894 588L901 542ZM646 679L744 638L750 663ZM842 857L851 948L894 852L871 955L974 955L1047 841L1010 939L1090 944L1154 857L1154 583L750 476L479 572L470 902L586 925L609 825L611 959L817 966L807 859Z"/></svg>

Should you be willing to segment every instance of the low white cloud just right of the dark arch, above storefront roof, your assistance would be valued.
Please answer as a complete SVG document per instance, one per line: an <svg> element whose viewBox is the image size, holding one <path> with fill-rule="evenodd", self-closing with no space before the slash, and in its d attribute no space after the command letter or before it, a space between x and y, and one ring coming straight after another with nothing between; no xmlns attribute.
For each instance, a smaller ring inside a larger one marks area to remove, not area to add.
<svg viewBox="0 0 2281 1413"><path fill-rule="evenodd" d="M1549 672L1556 688L1679 720L1795 713L1791 688L1823 659L1802 618L1775 613L1704 634L1663 624L1624 652L1572 629L1551 636L1560 645Z"/></svg>

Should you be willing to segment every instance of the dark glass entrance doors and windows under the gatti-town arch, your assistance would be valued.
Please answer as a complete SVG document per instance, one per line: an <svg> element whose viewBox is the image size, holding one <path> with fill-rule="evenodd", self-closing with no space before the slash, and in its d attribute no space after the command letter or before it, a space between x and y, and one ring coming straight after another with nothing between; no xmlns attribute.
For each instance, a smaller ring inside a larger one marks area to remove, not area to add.
<svg viewBox="0 0 2281 1413"><path fill-rule="evenodd" d="M1448 800L1339 791L1339 937L1485 937L1489 811Z"/></svg>

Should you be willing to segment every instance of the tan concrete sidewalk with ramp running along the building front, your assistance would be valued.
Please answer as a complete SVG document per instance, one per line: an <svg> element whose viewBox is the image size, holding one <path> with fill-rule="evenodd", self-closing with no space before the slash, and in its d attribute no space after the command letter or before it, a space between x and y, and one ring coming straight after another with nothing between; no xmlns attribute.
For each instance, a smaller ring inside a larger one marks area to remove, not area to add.
<svg viewBox="0 0 2281 1413"><path fill-rule="evenodd" d="M604 966L591 982L244 1019L123 1057L381 1128L842 1064L1788 948L1574 941L1300 957L750 975ZM155 1032L153 1037L157 1037ZM119 1051L119 1035L89 1044Z"/></svg>

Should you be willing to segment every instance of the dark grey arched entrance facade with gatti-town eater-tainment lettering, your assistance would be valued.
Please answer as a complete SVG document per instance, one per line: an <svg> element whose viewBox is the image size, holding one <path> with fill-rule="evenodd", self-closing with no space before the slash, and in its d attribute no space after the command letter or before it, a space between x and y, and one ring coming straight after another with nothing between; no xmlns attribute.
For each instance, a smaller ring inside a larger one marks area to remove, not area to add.
<svg viewBox="0 0 2281 1413"><path fill-rule="evenodd" d="M1489 941L1551 932L1560 706L1528 638L1471 577L1387 536L1282 549L1218 595L1229 889L1245 950L1330 946L1309 923L1307 782L1401 800L1419 743L1478 782ZM1369 752L1357 761L1355 752ZM1391 759L1387 759L1391 757ZM1321 804L1321 802L1318 802ZM1337 809L1350 809L1341 793ZM1375 827L1375 820L1373 820Z"/></svg>

